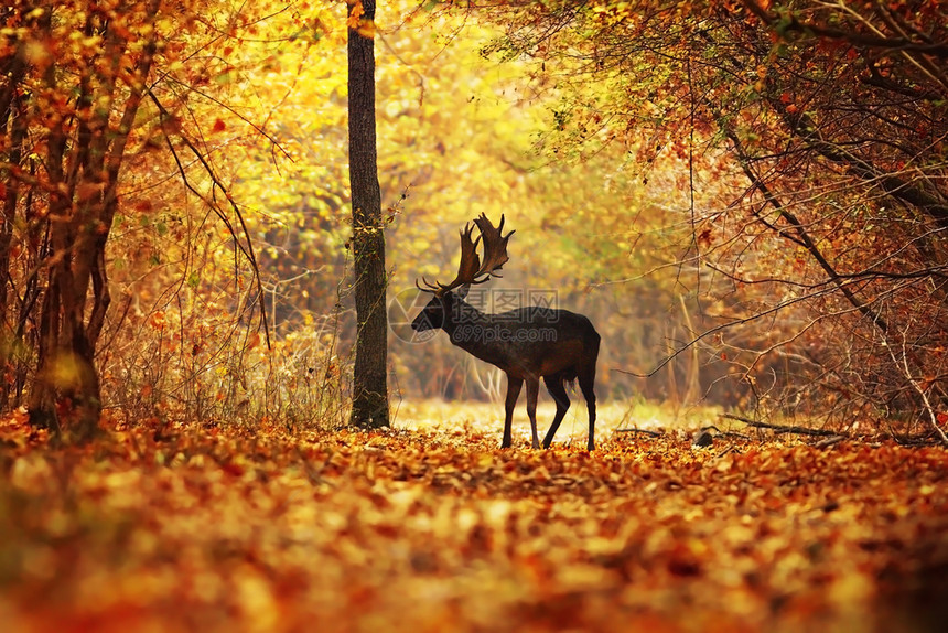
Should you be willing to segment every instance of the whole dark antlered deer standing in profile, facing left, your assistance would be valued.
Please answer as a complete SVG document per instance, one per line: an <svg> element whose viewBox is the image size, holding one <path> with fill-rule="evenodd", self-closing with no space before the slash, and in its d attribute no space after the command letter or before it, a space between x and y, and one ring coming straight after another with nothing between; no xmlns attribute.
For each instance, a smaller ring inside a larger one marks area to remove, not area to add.
<svg viewBox="0 0 948 633"><path fill-rule="evenodd" d="M530 430L534 434L532 448L540 448L537 436L540 378L557 403L553 423L543 438L543 448L548 449L570 408L565 383L579 379L580 390L589 409L588 450L593 450L599 333L589 319L568 310L525 307L498 314L485 314L467 303L464 298L471 286L499 277L497 271L509 260L507 240L514 234L511 230L503 235L503 215L496 227L483 213L474 221L474 225L480 230L476 240L471 238L473 227L470 223L461 230L461 265L453 281L431 283L422 277L422 287L416 280L418 289L431 293L432 298L411 322L411 329L416 332L444 330L451 337L451 343L499 367L507 375L506 415L500 448L509 448L513 443L510 425L525 382L527 416L530 418ZM482 239L483 264L477 254L477 243Z"/></svg>

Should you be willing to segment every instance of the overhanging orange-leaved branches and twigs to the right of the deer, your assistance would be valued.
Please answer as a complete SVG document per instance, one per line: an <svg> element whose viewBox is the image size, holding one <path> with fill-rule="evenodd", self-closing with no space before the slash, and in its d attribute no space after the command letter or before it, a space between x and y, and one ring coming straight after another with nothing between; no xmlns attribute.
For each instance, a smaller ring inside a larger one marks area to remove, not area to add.
<svg viewBox="0 0 948 633"><path fill-rule="evenodd" d="M701 315L697 344L754 399L944 421L944 7L487 12L506 25L487 52L530 60L560 95L547 152L582 163L617 144L626 179L677 172L689 200L675 282Z"/></svg>

